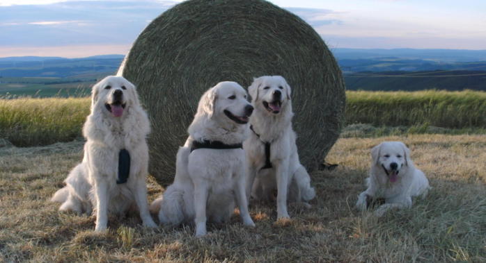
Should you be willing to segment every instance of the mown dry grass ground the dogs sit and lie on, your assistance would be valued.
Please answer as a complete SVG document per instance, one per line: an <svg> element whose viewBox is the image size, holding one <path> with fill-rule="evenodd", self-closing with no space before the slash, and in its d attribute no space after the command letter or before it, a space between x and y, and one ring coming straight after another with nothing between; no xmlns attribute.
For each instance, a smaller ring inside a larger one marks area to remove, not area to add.
<svg viewBox="0 0 486 263"><path fill-rule="evenodd" d="M365 188L370 148L402 140L433 187L414 207L377 218L354 209ZM253 204L256 228L212 225L141 228L136 215L111 218L95 233L94 217L57 212L49 197L81 160L82 142L0 148L0 259L5 262L485 262L486 136L408 135L341 138L317 171L317 198L290 205L292 220L274 223L275 204ZM162 192L154 180L149 199ZM1 260L0 260L1 261Z"/></svg>

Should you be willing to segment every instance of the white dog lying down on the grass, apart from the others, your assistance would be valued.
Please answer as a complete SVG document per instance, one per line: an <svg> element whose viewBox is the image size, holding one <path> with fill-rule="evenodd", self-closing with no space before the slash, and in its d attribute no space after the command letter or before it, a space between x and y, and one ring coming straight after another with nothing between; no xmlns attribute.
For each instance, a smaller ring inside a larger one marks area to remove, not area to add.
<svg viewBox="0 0 486 263"><path fill-rule="evenodd" d="M384 198L376 214L382 216L390 208L411 207L411 198L428 192L429 181L411 162L410 150L402 142L382 142L371 149L368 189L359 195L356 207L366 210L373 200Z"/></svg>

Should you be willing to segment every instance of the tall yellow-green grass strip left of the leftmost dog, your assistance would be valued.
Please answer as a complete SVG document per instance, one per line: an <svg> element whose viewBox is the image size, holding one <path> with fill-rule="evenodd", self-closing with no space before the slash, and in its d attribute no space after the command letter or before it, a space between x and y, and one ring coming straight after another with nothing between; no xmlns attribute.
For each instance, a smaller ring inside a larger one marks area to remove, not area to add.
<svg viewBox="0 0 486 263"><path fill-rule="evenodd" d="M0 138L15 146L68 142L81 135L89 98L0 99Z"/></svg>

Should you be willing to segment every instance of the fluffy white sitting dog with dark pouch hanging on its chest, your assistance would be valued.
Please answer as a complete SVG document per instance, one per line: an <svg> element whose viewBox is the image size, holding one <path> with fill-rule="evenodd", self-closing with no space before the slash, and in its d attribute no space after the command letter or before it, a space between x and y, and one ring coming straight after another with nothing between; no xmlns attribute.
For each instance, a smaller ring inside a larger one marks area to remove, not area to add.
<svg viewBox="0 0 486 263"><path fill-rule="evenodd" d="M150 124L132 83L107 76L93 86L91 114L83 128L84 158L69 173L66 186L52 201L59 210L96 212L95 230L105 230L108 212L123 214L138 207L143 226L157 227L147 202Z"/></svg>

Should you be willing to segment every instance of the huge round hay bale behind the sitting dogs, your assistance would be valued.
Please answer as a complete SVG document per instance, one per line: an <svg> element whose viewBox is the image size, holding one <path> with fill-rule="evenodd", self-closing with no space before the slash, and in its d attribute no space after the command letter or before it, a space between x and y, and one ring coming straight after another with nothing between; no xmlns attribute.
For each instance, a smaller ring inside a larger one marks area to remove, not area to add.
<svg viewBox="0 0 486 263"><path fill-rule="evenodd" d="M119 74L137 85L149 113L149 170L162 185L173 181L199 98L220 81L248 87L258 76L288 80L299 155L309 171L343 124L345 84L336 60L311 26L267 1L180 3L145 28Z"/></svg>

